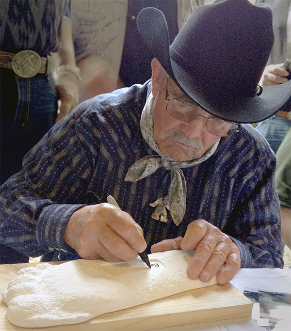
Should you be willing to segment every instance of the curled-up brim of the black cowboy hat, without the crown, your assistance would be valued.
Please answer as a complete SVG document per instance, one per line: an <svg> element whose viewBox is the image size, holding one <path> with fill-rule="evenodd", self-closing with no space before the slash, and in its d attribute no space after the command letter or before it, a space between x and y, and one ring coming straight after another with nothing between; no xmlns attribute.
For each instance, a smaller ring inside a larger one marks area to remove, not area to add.
<svg viewBox="0 0 291 331"><path fill-rule="evenodd" d="M179 63L175 49L169 45L167 22L160 10L143 9L137 17L137 26L152 56L171 79L191 100L214 116L236 123L256 123L272 116L291 97L291 81L263 87L260 95L241 95L239 90L235 98L228 98L227 93L219 94L219 88L211 84L211 77L208 78L209 86L201 85L201 70L189 73L189 68ZM193 63L193 66L197 67L199 63Z"/></svg>

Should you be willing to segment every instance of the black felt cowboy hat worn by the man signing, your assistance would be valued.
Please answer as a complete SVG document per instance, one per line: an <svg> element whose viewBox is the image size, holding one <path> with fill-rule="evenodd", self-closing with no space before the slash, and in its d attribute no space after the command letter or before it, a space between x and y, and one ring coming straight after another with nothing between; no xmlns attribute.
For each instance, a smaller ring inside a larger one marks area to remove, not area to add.
<svg viewBox="0 0 291 331"><path fill-rule="evenodd" d="M291 81L258 87L274 42L267 4L224 0L199 6L171 46L160 10L144 8L137 25L152 56L178 87L215 116L237 123L259 122L291 96Z"/></svg>

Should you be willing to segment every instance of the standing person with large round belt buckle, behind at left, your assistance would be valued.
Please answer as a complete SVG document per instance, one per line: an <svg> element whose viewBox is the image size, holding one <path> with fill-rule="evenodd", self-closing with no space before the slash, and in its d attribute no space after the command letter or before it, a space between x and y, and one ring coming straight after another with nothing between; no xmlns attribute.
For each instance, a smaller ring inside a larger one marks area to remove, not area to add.
<svg viewBox="0 0 291 331"><path fill-rule="evenodd" d="M0 2L1 183L21 170L24 155L78 105L80 73L68 6L66 0ZM0 246L1 263L28 259Z"/></svg>

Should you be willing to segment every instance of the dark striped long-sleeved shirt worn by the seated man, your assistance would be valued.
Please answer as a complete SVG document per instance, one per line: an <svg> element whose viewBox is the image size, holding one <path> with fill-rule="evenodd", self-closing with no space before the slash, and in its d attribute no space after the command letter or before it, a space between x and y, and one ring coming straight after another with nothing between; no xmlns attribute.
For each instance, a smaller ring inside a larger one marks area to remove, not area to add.
<svg viewBox="0 0 291 331"><path fill-rule="evenodd" d="M141 225L150 246L183 235L205 219L232 238L242 268L283 267L280 205L275 190L275 156L250 125L221 138L204 162L182 169L187 208L176 226L151 218L149 204L167 195L170 171L160 168L126 182L129 167L155 154L143 140L139 122L151 83L98 95L53 126L23 160L23 169L1 187L0 243L30 256L62 248L61 259L78 258L63 239L71 214L81 205L113 195Z"/></svg>

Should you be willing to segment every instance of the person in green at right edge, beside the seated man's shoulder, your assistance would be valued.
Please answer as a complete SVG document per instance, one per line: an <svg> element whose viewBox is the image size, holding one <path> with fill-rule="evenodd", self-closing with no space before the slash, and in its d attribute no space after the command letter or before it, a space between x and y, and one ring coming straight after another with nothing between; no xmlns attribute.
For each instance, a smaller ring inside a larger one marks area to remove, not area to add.
<svg viewBox="0 0 291 331"><path fill-rule="evenodd" d="M291 129L276 153L275 187L281 205L282 241L291 248Z"/></svg>

